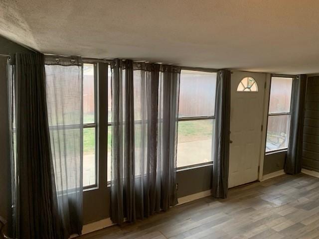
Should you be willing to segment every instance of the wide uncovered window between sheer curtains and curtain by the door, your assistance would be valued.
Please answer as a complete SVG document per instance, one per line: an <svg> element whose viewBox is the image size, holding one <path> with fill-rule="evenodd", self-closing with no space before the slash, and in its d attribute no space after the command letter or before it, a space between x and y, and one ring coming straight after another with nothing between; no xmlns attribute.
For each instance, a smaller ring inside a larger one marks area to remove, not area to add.
<svg viewBox="0 0 319 239"><path fill-rule="evenodd" d="M216 73L180 74L177 167L211 163L215 122Z"/></svg>

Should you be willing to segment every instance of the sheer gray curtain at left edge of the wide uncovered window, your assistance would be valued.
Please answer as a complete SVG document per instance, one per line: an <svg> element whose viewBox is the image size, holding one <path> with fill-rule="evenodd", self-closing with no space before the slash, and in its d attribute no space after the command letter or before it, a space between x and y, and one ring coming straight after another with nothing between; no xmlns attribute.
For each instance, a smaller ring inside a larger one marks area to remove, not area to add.
<svg viewBox="0 0 319 239"><path fill-rule="evenodd" d="M177 204L176 155L180 68L160 66L158 171L161 183L160 207L167 211Z"/></svg>

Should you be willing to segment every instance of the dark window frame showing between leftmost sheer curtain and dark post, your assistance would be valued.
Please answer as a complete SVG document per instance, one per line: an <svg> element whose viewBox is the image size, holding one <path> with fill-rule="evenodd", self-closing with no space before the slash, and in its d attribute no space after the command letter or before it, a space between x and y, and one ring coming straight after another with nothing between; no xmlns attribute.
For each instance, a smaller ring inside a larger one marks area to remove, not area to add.
<svg viewBox="0 0 319 239"><path fill-rule="evenodd" d="M97 130L97 118L98 118L98 95L97 95L97 62L92 62L92 61L87 61L83 60L83 65L84 64L91 64L94 66L94 122L93 123L84 123L83 122L83 130L85 128L94 128L95 129L95 183L87 186L83 186L83 191L92 189L92 188L97 188L98 187L98 130ZM83 104L83 103L82 103ZM82 109L83 111L83 109ZM84 115L84 114L83 114ZM83 117L83 116L82 116ZM83 137L84 139L84 137ZM83 141L83 140L82 140ZM82 142L83 143L83 142ZM84 155L82 156L84 157Z"/></svg>

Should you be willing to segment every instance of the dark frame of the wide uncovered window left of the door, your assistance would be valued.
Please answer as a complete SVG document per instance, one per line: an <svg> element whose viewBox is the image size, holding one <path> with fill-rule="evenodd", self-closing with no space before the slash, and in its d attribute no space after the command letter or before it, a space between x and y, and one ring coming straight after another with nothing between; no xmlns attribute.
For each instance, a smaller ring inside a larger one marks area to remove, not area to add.
<svg viewBox="0 0 319 239"><path fill-rule="evenodd" d="M199 68L199 67L181 67L181 71L182 70L208 72L208 73L217 73L218 72L215 69ZM214 112L213 112L214 115L212 115L212 116L197 116L197 117L196 116L195 117L177 117L177 123L182 122L182 121L192 121L192 120L193 121L205 120L205 119L215 120L216 119L216 91L217 91L217 75L216 75L216 87L215 87L215 107L214 107ZM179 100L178 100L178 104L179 104ZM177 132L178 132L178 129L177 129ZM178 141L177 141L176 147L178 147ZM211 150L213 150L213 148ZM176 158L176 161L177 161L177 158ZM185 166L181 166L181 167L176 167L176 172L183 171L183 170L189 170L189 169L193 169L193 168L198 168L198 167L211 166L211 165L213 165L213 163L214 163L214 160L212 159L209 162L195 163L195 164L189 164L189 165L185 165ZM177 164L177 162L176 162L176 164Z"/></svg>

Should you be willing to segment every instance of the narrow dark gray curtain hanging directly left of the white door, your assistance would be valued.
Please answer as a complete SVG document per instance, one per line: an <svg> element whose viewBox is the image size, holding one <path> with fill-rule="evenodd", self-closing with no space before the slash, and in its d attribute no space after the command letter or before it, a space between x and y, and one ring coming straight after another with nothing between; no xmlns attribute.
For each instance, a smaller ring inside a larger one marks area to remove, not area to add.
<svg viewBox="0 0 319 239"><path fill-rule="evenodd" d="M226 198L229 171L230 71L217 72L212 195Z"/></svg>

